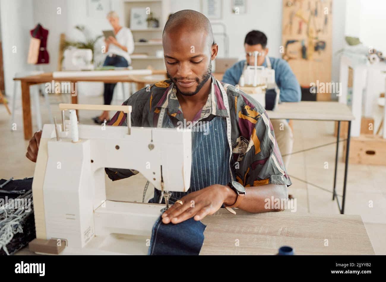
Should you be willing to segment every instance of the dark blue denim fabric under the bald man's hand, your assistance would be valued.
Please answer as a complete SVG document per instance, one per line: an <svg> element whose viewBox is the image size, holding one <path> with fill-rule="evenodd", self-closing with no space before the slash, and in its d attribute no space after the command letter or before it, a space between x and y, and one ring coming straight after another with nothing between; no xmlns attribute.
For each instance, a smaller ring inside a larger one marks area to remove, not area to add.
<svg viewBox="0 0 386 282"><path fill-rule="evenodd" d="M207 226L192 218L178 224L154 223L147 255L198 255Z"/></svg>

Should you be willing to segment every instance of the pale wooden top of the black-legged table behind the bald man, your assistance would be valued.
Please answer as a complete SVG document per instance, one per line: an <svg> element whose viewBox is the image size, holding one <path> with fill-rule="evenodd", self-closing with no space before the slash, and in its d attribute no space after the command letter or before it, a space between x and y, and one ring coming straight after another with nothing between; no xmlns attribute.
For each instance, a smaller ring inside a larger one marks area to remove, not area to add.
<svg viewBox="0 0 386 282"><path fill-rule="evenodd" d="M283 102L274 111L267 110L270 119L301 119L313 121L352 121L350 108L339 102Z"/></svg>

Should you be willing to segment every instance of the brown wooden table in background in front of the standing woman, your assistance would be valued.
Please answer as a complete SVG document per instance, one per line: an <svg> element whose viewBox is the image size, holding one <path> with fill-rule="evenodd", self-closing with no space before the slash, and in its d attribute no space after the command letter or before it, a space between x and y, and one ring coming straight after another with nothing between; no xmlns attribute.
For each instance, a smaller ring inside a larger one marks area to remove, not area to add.
<svg viewBox="0 0 386 282"><path fill-rule="evenodd" d="M162 76L166 75L166 70L153 70L153 75ZM151 76L151 75L150 75ZM166 76L165 76L166 77ZM52 82L104 82L104 83L117 83L117 82L135 82L139 81L138 76L125 75L125 76L90 76L90 77L66 77L66 78L53 78L52 73L42 73L40 75L32 75L21 78L14 78L14 80L20 80L22 85L22 105L23 105L23 124L24 124L24 139L29 140L32 137L32 119L31 119L31 103L30 103L30 85ZM150 82L151 81L151 82ZM147 83L156 82L151 79L147 79ZM77 87L74 87L75 93L71 94L71 102L78 104Z"/></svg>

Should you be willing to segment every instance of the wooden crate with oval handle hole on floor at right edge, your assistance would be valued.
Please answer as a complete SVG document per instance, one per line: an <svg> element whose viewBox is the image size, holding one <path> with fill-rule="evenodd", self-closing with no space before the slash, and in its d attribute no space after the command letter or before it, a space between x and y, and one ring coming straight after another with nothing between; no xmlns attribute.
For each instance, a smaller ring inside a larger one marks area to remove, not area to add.
<svg viewBox="0 0 386 282"><path fill-rule="evenodd" d="M343 146L343 161L346 142ZM349 163L364 165L386 165L386 139L378 135L361 135L350 140Z"/></svg>

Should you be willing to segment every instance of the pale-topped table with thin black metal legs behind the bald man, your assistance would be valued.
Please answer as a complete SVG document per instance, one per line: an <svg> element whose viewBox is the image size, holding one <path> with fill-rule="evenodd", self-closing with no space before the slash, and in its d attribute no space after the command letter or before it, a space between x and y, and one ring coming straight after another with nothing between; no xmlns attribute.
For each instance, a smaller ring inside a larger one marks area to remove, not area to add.
<svg viewBox="0 0 386 282"><path fill-rule="evenodd" d="M337 203L339 211L344 214L344 203L346 199L346 185L347 185L347 172L349 166L349 149L350 149L350 129L351 121L355 119L351 110L347 105L338 102L313 102L313 101L301 101L301 102L285 102L279 104L274 111L267 111L270 119L298 119L298 120L310 120L310 121L337 121L338 122L338 136L337 146L335 152L335 172L334 172L334 189L332 192L332 200L337 196L335 192L337 168L338 168L338 154L339 154L339 135L340 135L340 122L348 121L349 126L347 130L347 143L346 143L346 158L344 169L344 182L343 182L343 195L342 205ZM320 147L320 146L319 146Z"/></svg>

